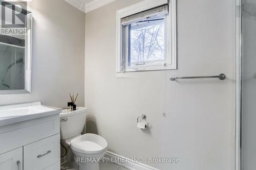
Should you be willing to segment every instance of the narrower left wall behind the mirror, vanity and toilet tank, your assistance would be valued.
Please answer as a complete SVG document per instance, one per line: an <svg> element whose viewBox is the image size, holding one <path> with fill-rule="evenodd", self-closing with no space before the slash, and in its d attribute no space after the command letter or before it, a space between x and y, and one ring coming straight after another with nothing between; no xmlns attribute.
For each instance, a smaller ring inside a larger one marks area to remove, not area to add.
<svg viewBox="0 0 256 170"><path fill-rule="evenodd" d="M0 105L41 101L66 107L69 92L84 105L85 14L62 0L33 0L32 92L0 95Z"/></svg>

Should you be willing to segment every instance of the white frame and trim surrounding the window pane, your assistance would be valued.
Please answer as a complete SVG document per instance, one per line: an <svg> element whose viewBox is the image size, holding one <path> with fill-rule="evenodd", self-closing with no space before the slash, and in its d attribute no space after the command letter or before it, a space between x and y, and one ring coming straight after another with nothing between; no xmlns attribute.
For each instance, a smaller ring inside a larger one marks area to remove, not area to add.
<svg viewBox="0 0 256 170"><path fill-rule="evenodd" d="M165 19L165 30L166 31L166 41L165 41L165 61L170 60L168 64L162 66L148 66L141 65L136 66L138 69L125 69L124 71L121 68L122 60L122 26L121 18L136 14L141 11L145 11L151 8L155 8L164 4L169 4L169 14ZM169 70L177 69L177 45L176 45L176 0L145 0L138 4L123 8L116 12L116 72L132 72L132 71L149 71L149 70Z"/></svg>

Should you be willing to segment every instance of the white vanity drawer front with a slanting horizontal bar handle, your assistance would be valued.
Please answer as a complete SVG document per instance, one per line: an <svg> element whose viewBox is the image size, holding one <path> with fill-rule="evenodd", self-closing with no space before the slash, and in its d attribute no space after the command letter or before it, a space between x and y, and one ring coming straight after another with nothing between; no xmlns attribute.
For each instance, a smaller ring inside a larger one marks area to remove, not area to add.
<svg viewBox="0 0 256 170"><path fill-rule="evenodd" d="M59 134L24 146L24 169L42 170L60 161ZM59 167L58 167L59 168Z"/></svg>

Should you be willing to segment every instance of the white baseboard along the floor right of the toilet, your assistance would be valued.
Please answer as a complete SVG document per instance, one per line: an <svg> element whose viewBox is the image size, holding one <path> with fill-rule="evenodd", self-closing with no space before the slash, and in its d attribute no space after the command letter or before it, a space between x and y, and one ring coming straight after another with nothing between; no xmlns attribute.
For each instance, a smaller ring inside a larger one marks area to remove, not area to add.
<svg viewBox="0 0 256 170"><path fill-rule="evenodd" d="M113 163L115 163L119 166L125 167L127 169L131 169L131 170L160 170L160 169L157 169L157 168L152 167L152 166L148 166L148 165L143 164L143 163L134 162L131 159L127 159L126 157L123 157L121 155L112 153L110 151L106 152L105 157L107 157L107 158L117 158L117 159L126 159L126 160L128 160L126 162L113 162Z"/></svg>

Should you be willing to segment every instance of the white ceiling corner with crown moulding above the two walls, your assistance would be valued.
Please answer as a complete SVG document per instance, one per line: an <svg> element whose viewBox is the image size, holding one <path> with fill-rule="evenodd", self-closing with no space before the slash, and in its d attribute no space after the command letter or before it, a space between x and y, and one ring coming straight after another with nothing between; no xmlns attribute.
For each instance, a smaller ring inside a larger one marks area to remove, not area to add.
<svg viewBox="0 0 256 170"><path fill-rule="evenodd" d="M65 0L84 13L88 13L116 0Z"/></svg>

